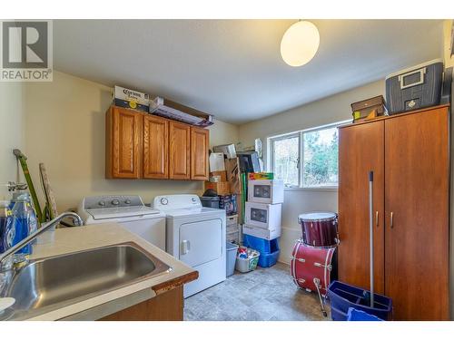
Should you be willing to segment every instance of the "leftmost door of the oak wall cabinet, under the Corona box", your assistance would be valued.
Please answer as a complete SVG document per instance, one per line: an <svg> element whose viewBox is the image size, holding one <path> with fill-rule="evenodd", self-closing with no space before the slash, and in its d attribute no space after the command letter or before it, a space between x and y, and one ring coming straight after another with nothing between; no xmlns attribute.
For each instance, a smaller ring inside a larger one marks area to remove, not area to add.
<svg viewBox="0 0 454 340"><path fill-rule="evenodd" d="M112 106L106 114L107 178L141 177L142 114Z"/></svg>

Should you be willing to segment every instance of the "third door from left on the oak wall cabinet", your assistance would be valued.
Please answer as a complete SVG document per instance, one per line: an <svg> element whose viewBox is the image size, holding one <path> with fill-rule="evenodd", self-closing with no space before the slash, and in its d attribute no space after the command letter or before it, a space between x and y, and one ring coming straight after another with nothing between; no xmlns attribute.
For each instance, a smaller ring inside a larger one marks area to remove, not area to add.
<svg viewBox="0 0 454 340"><path fill-rule="evenodd" d="M189 180L191 127L177 121L169 121L169 178Z"/></svg>

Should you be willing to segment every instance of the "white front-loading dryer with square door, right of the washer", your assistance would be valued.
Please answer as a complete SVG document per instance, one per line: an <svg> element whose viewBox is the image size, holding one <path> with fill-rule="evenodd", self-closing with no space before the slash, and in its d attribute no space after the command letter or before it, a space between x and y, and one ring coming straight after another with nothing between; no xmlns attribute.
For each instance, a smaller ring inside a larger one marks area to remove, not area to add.
<svg viewBox="0 0 454 340"><path fill-rule="evenodd" d="M153 208L167 219L167 252L199 272L184 297L225 280L225 210L202 207L197 195L157 196Z"/></svg>

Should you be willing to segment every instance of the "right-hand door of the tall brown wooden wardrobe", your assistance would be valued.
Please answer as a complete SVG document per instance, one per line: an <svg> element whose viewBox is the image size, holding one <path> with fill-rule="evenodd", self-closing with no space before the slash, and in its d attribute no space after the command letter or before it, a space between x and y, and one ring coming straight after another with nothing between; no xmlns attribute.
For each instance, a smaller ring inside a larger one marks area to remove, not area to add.
<svg viewBox="0 0 454 340"><path fill-rule="evenodd" d="M396 320L448 318L448 128L446 108L385 122L385 292Z"/></svg>

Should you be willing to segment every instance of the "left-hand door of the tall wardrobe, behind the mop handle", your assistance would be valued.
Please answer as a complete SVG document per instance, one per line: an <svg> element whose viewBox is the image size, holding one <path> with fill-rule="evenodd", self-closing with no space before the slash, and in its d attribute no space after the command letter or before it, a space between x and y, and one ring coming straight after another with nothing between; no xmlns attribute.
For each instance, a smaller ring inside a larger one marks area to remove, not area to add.
<svg viewBox="0 0 454 340"><path fill-rule="evenodd" d="M369 171L373 178L374 288L384 292L384 123L339 130L339 279L370 288Z"/></svg>

